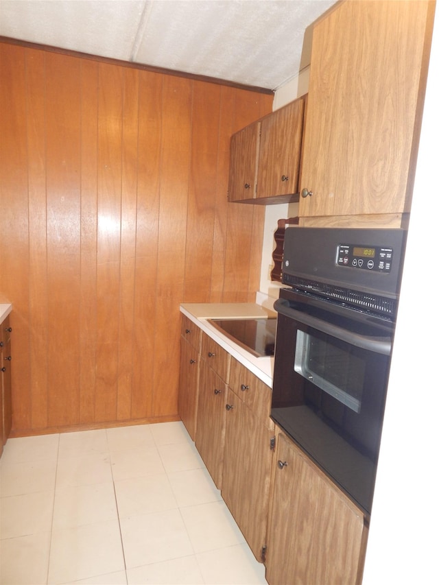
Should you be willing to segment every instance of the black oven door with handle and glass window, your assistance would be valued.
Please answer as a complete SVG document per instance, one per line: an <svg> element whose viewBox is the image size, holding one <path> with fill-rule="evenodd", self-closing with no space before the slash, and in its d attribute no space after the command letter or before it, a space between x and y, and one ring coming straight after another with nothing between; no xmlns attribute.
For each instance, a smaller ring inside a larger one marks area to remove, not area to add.
<svg viewBox="0 0 439 585"><path fill-rule="evenodd" d="M272 418L370 514L392 336L294 295L274 305Z"/></svg>

